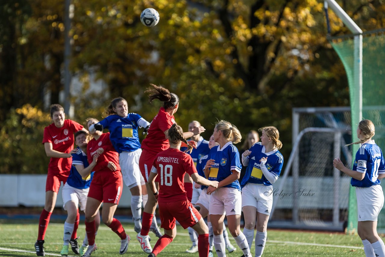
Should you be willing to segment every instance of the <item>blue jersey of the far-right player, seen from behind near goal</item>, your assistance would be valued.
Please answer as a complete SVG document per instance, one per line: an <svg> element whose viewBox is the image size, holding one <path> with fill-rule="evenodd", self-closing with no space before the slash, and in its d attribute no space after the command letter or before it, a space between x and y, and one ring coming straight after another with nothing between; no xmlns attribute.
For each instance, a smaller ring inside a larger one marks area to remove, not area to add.
<svg viewBox="0 0 385 257"><path fill-rule="evenodd" d="M385 173L385 161L381 149L374 140L362 144L356 153L353 170L365 173L363 180L352 178L350 184L357 187L369 187L380 184L378 174Z"/></svg>

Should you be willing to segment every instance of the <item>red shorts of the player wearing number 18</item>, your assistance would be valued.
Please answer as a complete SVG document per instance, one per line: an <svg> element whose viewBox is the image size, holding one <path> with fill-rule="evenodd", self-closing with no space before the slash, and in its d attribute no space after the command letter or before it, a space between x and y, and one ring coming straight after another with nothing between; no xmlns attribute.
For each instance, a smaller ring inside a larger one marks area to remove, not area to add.
<svg viewBox="0 0 385 257"><path fill-rule="evenodd" d="M159 215L161 216L161 228L172 230L175 220L186 229L194 226L202 218L201 214L192 206L189 200L171 203L159 203Z"/></svg>

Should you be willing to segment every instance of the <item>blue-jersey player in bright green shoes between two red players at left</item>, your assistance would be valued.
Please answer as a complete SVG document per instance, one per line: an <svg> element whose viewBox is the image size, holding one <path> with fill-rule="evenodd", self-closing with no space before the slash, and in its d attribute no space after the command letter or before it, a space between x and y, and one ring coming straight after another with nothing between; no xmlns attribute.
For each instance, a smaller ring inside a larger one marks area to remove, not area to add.
<svg viewBox="0 0 385 257"><path fill-rule="evenodd" d="M62 190L63 207L67 211L67 219L64 222L64 244L60 252L61 255L68 255L69 243L71 244L72 251L75 254L82 256L88 247L87 235L83 240L83 244L79 249L77 238L71 239L72 232L77 230L75 224L79 224L79 210L85 210L85 204L87 202L87 195L91 184L92 176L94 172L92 169L96 165L98 155L94 156L92 163L88 164L87 160L87 132L79 130L75 133L75 144L77 152L72 154L72 166L70 175L67 178ZM75 222L77 221L77 222ZM95 226L99 227L100 215L96 216ZM76 234L76 233L75 233Z"/></svg>

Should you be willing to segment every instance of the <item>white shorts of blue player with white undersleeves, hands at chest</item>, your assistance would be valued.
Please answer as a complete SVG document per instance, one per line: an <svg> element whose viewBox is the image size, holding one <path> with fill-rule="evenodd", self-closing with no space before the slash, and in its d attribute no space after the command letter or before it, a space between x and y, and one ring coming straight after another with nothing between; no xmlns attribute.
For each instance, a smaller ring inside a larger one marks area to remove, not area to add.
<svg viewBox="0 0 385 257"><path fill-rule="evenodd" d="M242 208L254 206L257 212L270 215L271 208L273 207L273 194L270 193L271 190L273 190L273 186L247 183L242 188Z"/></svg>

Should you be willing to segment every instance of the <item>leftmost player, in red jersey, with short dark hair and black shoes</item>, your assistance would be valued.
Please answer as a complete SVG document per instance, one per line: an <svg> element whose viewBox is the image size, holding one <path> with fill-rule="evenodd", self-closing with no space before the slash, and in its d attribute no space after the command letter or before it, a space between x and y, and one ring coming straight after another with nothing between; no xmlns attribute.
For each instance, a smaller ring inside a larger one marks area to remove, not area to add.
<svg viewBox="0 0 385 257"><path fill-rule="evenodd" d="M77 151L74 150L74 133L81 129L85 130L79 123L65 119L64 109L60 104L52 104L50 106L50 117L53 123L44 128L43 134L45 153L51 159L45 183L44 209L40 214L39 231L37 241L35 242L37 256L45 255L43 247L45 232L55 207L60 182L63 181L63 184L65 184L65 181L67 181L71 170L72 153ZM79 224L79 216L77 216L76 220ZM71 241L77 244L74 239L76 239L75 229Z"/></svg>

